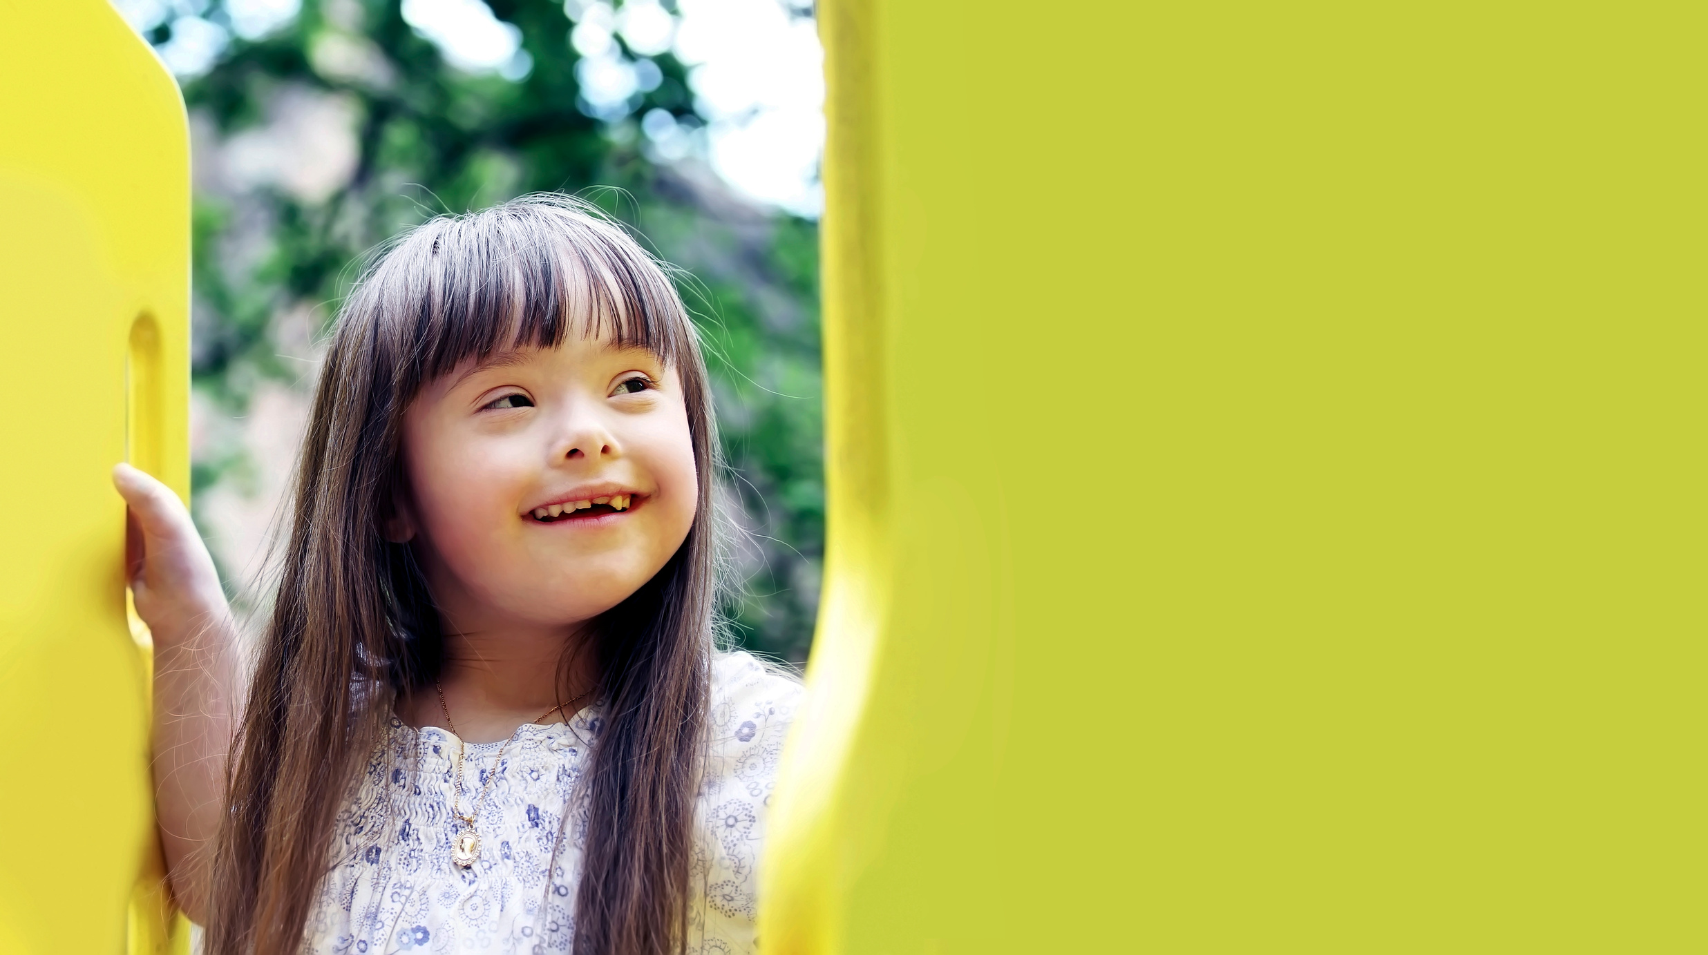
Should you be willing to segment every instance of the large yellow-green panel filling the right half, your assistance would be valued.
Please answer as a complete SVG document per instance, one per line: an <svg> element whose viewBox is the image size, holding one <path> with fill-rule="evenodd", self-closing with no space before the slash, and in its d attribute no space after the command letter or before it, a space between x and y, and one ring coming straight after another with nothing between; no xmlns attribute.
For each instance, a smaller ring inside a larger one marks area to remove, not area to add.
<svg viewBox="0 0 1708 955"><path fill-rule="evenodd" d="M825 0L765 952L1696 952L1703 14Z"/></svg>

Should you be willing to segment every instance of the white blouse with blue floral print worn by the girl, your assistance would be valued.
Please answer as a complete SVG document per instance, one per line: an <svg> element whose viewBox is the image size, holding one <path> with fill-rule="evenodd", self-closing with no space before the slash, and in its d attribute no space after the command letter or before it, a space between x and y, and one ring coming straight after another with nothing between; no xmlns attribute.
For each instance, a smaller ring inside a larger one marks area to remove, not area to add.
<svg viewBox="0 0 1708 955"><path fill-rule="evenodd" d="M753 952L765 810L799 697L796 680L746 653L712 661L688 952ZM456 736L393 721L338 813L335 868L309 914L304 952L569 952L588 827L576 782L598 733L591 707L567 724L518 729L475 822L480 858L465 870L451 861L461 825L451 817ZM466 745L463 793L480 793L497 750Z"/></svg>

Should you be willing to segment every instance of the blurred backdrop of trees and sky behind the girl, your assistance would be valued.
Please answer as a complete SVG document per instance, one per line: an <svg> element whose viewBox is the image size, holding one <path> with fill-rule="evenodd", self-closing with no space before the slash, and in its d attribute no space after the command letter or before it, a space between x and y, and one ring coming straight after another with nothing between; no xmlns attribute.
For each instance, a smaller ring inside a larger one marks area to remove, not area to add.
<svg viewBox="0 0 1708 955"><path fill-rule="evenodd" d="M114 0L195 169L195 514L253 601L319 342L376 243L559 190L685 268L743 646L803 661L823 548L822 53L811 0Z"/></svg>

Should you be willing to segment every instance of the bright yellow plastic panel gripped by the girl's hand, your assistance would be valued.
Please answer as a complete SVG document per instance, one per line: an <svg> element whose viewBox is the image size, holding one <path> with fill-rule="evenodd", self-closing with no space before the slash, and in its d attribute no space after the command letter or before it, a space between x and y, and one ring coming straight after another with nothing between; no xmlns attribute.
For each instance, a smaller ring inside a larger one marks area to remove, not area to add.
<svg viewBox="0 0 1708 955"><path fill-rule="evenodd" d="M184 109L104 0L0 22L0 952L183 950L108 473L190 494Z"/></svg>

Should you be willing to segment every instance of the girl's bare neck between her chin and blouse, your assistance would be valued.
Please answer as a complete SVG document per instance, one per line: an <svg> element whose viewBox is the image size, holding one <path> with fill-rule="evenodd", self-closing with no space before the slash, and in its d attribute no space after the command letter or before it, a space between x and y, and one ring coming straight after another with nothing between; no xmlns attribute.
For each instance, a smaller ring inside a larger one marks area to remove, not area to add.
<svg viewBox="0 0 1708 955"><path fill-rule="evenodd" d="M523 723L572 718L594 702L596 683L598 666L582 627L446 634L439 685L398 700L398 718L417 728L451 729L454 723L465 741L490 743L509 738ZM559 704L562 714L552 711ZM552 712L541 718L547 711Z"/></svg>

